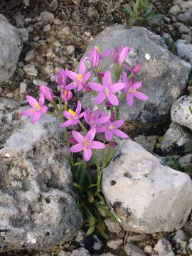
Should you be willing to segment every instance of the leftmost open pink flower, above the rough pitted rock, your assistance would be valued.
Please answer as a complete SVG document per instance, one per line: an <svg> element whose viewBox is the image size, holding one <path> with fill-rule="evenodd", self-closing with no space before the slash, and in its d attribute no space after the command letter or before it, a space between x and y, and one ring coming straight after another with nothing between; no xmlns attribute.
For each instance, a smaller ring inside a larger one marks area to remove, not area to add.
<svg viewBox="0 0 192 256"><path fill-rule="evenodd" d="M48 111L47 106L43 106L45 102L45 97L43 94L39 97L39 102L37 102L36 99L34 99L32 96L27 95L26 99L28 100L29 105L32 107L29 110L25 110L22 112L24 116L33 116L33 119L31 120L32 124L35 124L35 122L40 119L41 114L45 114Z"/></svg>

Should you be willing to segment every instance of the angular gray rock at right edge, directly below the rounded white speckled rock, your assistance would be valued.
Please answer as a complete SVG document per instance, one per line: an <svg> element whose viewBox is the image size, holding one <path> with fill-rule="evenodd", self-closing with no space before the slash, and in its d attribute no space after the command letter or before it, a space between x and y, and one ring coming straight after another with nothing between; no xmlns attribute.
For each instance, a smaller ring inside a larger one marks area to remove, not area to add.
<svg viewBox="0 0 192 256"><path fill-rule="evenodd" d="M161 142L164 154L183 154L192 150L192 135L185 127L171 123Z"/></svg>

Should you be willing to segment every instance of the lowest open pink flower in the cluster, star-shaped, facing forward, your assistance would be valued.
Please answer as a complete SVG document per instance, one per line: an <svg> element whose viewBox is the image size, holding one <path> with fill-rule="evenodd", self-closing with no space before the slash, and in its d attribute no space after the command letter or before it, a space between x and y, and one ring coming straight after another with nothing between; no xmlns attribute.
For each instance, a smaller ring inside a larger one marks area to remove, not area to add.
<svg viewBox="0 0 192 256"><path fill-rule="evenodd" d="M92 128L87 132L86 136L83 137L79 132L72 131L74 139L78 142L74 146L70 147L70 152L77 153L83 150L83 158L85 161L90 161L92 156L91 149L104 149L105 144L102 142L93 141L96 129Z"/></svg>

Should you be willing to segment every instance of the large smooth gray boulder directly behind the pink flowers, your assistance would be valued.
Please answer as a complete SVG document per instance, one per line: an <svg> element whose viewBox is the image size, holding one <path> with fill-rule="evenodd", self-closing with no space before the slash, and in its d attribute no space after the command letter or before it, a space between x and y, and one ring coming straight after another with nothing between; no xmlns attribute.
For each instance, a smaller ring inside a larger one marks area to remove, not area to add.
<svg viewBox="0 0 192 256"><path fill-rule="evenodd" d="M94 46L98 46L103 53L119 45L132 48L125 63L132 68L138 63L143 63L137 80L142 81L141 91L149 96L148 101L134 99L134 107L129 107L124 100L119 107L119 119L145 124L146 127L164 122L171 104L186 87L191 65L171 53L164 40L146 28L125 28L120 25L110 26L97 35L82 59ZM104 70L113 70L112 57L105 58L102 66ZM89 68L90 63L87 62L87 69ZM83 92L80 97L85 107L95 107L92 95ZM103 105L99 106L102 110L105 109Z"/></svg>

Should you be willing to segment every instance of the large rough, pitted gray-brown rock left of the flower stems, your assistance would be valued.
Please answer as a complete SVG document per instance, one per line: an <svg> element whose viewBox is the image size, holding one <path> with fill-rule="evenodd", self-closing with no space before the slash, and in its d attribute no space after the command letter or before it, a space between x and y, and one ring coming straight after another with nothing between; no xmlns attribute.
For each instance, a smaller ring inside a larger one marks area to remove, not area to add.
<svg viewBox="0 0 192 256"><path fill-rule="evenodd" d="M31 124L28 117L9 114L0 127L6 138L0 150L0 252L70 240L82 224L82 214L71 189L58 122L45 114Z"/></svg>

